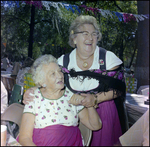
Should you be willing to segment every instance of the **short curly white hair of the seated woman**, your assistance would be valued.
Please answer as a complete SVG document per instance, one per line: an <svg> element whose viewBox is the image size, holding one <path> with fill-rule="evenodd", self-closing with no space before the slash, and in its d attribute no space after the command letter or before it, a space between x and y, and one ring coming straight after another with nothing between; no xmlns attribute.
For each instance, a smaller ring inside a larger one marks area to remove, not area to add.
<svg viewBox="0 0 150 147"><path fill-rule="evenodd" d="M33 81L38 87L41 87L42 83L46 80L46 75L42 70L42 67L43 65L48 65L49 63L57 63L57 59L52 55L46 54L37 58L31 67Z"/></svg>

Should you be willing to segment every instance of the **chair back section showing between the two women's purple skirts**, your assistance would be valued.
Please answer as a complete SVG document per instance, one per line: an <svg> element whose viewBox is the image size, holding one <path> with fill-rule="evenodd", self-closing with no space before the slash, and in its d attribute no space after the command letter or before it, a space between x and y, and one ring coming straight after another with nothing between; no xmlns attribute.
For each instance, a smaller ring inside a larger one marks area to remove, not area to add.
<svg viewBox="0 0 150 147"><path fill-rule="evenodd" d="M81 132L83 140L84 140L83 146L89 146L91 138L92 138L92 130L88 129L81 122L79 123L79 129L80 129L80 132Z"/></svg>

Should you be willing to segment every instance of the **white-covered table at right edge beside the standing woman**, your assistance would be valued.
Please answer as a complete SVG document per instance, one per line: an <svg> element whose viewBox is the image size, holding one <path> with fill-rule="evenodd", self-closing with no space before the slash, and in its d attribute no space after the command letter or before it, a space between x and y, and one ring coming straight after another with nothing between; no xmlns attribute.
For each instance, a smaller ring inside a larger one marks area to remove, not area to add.
<svg viewBox="0 0 150 147"><path fill-rule="evenodd" d="M126 109L129 124L133 125L149 109L149 105L144 104L148 96L139 94L126 94Z"/></svg>

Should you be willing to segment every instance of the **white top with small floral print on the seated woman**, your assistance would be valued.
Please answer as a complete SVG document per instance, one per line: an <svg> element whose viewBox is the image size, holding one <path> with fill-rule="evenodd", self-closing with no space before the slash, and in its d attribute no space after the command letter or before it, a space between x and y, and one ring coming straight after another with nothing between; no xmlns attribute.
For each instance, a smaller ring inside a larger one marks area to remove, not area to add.
<svg viewBox="0 0 150 147"><path fill-rule="evenodd" d="M34 92L34 101L25 105L24 113L35 115L34 128L45 128L51 125L77 126L78 113L84 106L74 106L68 101L73 93L67 88L64 95L57 100L50 100L41 94L39 89Z"/></svg>

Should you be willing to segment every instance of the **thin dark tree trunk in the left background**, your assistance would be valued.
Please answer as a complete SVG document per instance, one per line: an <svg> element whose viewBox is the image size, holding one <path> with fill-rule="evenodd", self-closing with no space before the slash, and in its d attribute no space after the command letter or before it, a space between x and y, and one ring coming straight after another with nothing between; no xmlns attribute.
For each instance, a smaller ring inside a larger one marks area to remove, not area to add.
<svg viewBox="0 0 150 147"><path fill-rule="evenodd" d="M35 6L31 6L31 22L30 22L30 36L29 36L29 47L28 47L28 57L32 58L33 50L33 32L34 32L34 21L35 21Z"/></svg>

